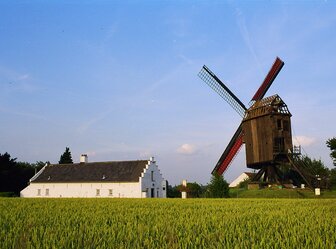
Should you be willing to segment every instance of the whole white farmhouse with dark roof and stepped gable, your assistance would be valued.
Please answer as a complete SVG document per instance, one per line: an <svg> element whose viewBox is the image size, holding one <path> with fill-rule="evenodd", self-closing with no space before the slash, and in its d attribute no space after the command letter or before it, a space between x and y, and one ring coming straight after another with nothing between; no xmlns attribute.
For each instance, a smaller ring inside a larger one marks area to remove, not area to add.
<svg viewBox="0 0 336 249"><path fill-rule="evenodd" d="M166 198L167 181L149 161L49 164L30 179L21 197Z"/></svg>

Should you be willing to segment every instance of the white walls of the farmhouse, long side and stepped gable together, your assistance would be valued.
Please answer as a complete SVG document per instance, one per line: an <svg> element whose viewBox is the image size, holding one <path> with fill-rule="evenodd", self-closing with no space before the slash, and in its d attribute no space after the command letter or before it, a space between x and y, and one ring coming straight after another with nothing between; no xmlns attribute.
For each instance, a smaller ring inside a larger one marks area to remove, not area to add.
<svg viewBox="0 0 336 249"><path fill-rule="evenodd" d="M34 178L35 176L32 179ZM151 158L138 182L36 183L32 181L21 191L20 196L27 198L166 198L167 181L162 177L154 158Z"/></svg>

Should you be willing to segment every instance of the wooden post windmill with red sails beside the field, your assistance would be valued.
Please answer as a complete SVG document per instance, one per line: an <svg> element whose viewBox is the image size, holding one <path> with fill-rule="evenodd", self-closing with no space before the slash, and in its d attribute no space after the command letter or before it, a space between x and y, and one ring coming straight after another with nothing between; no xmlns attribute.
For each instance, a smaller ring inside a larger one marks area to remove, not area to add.
<svg viewBox="0 0 336 249"><path fill-rule="evenodd" d="M241 117L242 122L219 158L212 174L222 175L243 144L246 165L258 170L252 181L284 183L291 181L288 171L294 171L311 186L311 179L302 167L294 163L291 113L279 95L264 98L284 62L276 58L264 81L253 95L249 108L205 65L198 76L217 92Z"/></svg>

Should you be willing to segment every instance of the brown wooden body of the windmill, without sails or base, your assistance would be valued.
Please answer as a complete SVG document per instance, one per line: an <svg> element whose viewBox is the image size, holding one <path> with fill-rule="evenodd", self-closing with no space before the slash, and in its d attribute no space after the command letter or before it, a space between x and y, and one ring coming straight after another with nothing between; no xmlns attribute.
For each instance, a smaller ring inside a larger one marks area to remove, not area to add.
<svg viewBox="0 0 336 249"><path fill-rule="evenodd" d="M256 102L247 111L242 128L249 168L258 169L292 150L290 117L278 95Z"/></svg>

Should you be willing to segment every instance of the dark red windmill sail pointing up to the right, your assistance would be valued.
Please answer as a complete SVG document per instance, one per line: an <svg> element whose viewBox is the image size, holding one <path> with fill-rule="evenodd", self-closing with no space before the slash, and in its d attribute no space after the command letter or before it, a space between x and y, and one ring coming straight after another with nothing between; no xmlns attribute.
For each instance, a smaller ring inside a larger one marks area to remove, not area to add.
<svg viewBox="0 0 336 249"><path fill-rule="evenodd" d="M255 93L255 95L253 96L252 101L260 100L265 96L267 90L272 85L274 79L277 77L278 73L280 72L284 64L285 63L279 57L275 59L273 66L271 67L270 71L266 75L263 83L261 84L257 92Z"/></svg>

